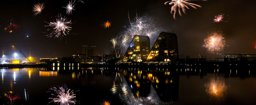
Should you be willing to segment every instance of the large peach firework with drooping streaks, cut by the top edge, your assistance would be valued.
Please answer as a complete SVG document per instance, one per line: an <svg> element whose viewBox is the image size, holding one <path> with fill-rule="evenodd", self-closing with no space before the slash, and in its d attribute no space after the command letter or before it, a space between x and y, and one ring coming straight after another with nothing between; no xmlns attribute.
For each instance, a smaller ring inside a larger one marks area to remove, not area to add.
<svg viewBox="0 0 256 105"><path fill-rule="evenodd" d="M198 1L198 0L172 0L172 1L167 1L165 2L165 5L169 4L172 5L171 8L171 14L173 14L173 18L176 19L176 12L178 9L178 12L180 14L180 16L182 16L182 12L186 14L186 8L190 9L190 7L197 9L197 7L202 7L200 5L197 4L193 4L193 3L189 3L189 1ZM207 0L202 0L202 1L207 1Z"/></svg>

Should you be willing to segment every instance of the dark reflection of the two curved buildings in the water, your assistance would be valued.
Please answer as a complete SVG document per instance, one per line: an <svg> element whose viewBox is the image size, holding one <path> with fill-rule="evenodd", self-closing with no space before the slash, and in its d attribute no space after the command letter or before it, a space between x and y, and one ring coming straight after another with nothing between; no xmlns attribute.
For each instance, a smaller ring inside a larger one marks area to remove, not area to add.
<svg viewBox="0 0 256 105"><path fill-rule="evenodd" d="M170 75L169 71L165 71L165 73L147 73L141 70L124 70L123 74L135 98L147 97L148 99L156 99L157 97L161 102L178 100L178 75Z"/></svg>

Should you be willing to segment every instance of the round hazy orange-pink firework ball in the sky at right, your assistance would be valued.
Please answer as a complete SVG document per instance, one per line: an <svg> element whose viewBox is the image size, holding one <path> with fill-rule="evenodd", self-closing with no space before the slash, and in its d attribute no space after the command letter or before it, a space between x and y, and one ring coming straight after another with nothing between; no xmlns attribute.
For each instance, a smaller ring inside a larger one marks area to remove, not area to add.
<svg viewBox="0 0 256 105"><path fill-rule="evenodd" d="M211 32L209 36L204 39L203 47L212 54L219 54L225 47L225 38L221 32Z"/></svg>

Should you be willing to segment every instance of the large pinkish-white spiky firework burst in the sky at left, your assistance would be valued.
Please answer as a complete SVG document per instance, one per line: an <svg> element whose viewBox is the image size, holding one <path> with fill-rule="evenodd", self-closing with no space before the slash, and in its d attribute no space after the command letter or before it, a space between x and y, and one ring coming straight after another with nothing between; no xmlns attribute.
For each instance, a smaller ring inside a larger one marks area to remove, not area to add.
<svg viewBox="0 0 256 105"><path fill-rule="evenodd" d="M55 21L48 23L48 25L46 26L46 27L50 27L48 31L52 30L52 32L50 32L50 34L46 36L62 38L64 35L69 34L69 31L72 28L71 24L72 24L71 20L68 20L67 18L65 18L65 16L62 17L61 15L58 15Z"/></svg>

